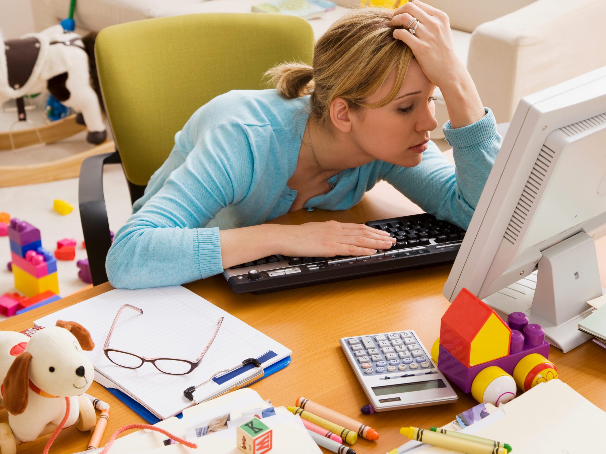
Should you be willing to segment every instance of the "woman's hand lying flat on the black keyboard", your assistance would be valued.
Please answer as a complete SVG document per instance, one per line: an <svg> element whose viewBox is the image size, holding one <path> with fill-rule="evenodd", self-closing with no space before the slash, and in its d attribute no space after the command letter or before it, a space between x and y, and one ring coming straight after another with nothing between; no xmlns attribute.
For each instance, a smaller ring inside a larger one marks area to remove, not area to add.
<svg viewBox="0 0 606 454"><path fill-rule="evenodd" d="M282 245L278 254L289 257L370 255L396 242L388 232L364 224L328 221L275 227Z"/></svg>

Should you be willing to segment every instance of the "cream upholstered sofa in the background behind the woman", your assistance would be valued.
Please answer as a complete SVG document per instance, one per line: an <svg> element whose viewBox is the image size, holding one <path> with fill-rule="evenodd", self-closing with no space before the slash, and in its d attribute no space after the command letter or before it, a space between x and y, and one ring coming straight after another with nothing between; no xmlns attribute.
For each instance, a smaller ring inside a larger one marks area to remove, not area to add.
<svg viewBox="0 0 606 454"><path fill-rule="evenodd" d="M339 7L310 21L316 39L358 0L336 0ZM108 25L191 13L251 11L262 0L85 0L76 6L82 32ZM509 122L527 94L606 65L606 0L426 0L448 14L459 58L467 65L482 103L497 122ZM36 30L67 15L69 0L32 0ZM436 90L442 139L448 120Z"/></svg>

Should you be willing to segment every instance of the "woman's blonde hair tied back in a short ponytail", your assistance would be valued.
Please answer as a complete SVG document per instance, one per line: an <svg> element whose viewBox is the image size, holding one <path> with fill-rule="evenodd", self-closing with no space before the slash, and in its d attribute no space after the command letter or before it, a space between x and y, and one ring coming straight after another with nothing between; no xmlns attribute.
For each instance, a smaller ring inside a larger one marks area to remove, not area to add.
<svg viewBox="0 0 606 454"><path fill-rule="evenodd" d="M313 67L302 62L277 65L265 72L278 93L286 99L311 94L311 116L326 123L330 103L336 97L347 100L350 108L382 107L398 94L408 64L410 48L392 36L393 10L361 8L336 21L316 42ZM368 104L365 99L376 93L393 68L398 68L396 83L385 99Z"/></svg>

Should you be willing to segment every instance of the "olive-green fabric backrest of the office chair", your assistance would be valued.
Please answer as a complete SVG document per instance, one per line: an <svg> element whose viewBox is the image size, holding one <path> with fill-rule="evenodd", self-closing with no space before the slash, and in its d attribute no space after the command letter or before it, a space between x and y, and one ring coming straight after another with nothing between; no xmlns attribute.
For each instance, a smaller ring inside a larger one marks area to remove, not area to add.
<svg viewBox="0 0 606 454"><path fill-rule="evenodd" d="M261 13L173 16L101 30L99 82L127 179L147 185L199 107L230 90L265 88L265 70L310 63L313 44L305 19Z"/></svg>

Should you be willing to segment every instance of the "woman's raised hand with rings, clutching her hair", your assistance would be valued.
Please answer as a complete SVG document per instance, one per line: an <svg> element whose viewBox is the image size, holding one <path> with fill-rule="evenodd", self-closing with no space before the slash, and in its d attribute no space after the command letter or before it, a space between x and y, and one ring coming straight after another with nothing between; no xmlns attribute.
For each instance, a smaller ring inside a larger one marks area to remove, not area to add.
<svg viewBox="0 0 606 454"><path fill-rule="evenodd" d="M398 28L393 31L393 37L410 47L427 79L442 87L451 82L456 74L467 73L454 50L450 19L446 13L418 0L408 1L395 10L389 25L407 27L413 18L419 21L415 34ZM415 22L410 28L414 27Z"/></svg>

